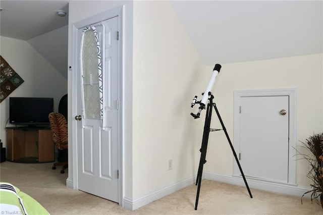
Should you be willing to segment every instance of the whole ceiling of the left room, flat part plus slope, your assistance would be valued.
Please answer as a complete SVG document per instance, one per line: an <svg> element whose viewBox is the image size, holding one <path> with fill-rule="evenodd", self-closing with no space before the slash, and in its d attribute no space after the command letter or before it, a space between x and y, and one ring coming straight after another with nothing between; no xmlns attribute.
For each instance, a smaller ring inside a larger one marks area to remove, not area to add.
<svg viewBox="0 0 323 215"><path fill-rule="evenodd" d="M0 1L1 36L26 40L67 79L69 1ZM57 11L66 11L59 17Z"/></svg>

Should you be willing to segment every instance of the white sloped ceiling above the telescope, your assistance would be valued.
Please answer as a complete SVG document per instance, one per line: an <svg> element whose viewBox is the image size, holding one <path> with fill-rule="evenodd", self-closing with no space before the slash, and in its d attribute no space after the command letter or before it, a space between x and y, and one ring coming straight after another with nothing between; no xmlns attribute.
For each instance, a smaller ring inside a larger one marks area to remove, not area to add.
<svg viewBox="0 0 323 215"><path fill-rule="evenodd" d="M322 1L171 1L204 63L322 52Z"/></svg>

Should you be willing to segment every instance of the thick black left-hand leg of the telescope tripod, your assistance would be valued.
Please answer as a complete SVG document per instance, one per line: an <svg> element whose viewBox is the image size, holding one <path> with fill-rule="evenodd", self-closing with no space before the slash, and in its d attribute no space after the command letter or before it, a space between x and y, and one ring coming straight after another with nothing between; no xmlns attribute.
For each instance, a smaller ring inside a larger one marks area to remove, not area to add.
<svg viewBox="0 0 323 215"><path fill-rule="evenodd" d="M210 132L210 124L211 124L211 116L212 116L212 107L211 103L207 104L206 109L206 116L205 116L205 123L204 123L204 131L203 131L203 139L202 139L202 145L201 145L201 157L200 157L200 163L198 166L198 172L197 172L197 178L196 178L196 185L197 186L197 193L196 193L196 200L195 200L195 210L197 210L197 204L198 204L198 198L201 188L201 181L202 181L202 173L203 173L203 166L206 163L206 150L207 150L207 141L208 136Z"/></svg>

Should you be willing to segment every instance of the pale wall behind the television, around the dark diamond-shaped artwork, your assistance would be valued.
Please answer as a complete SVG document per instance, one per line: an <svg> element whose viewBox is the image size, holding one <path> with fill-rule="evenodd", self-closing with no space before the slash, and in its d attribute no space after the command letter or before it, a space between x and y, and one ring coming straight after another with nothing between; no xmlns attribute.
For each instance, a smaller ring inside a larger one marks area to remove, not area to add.
<svg viewBox="0 0 323 215"><path fill-rule="evenodd" d="M60 99L67 93L67 80L24 40L1 37L1 56L24 80L0 103L0 139L6 146L9 97L53 97L54 111L58 111Z"/></svg>

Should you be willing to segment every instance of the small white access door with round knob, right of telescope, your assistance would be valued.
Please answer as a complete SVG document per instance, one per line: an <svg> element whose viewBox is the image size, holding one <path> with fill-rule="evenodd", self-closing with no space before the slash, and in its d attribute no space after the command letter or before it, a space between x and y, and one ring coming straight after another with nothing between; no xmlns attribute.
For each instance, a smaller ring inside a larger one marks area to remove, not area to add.
<svg viewBox="0 0 323 215"><path fill-rule="evenodd" d="M238 118L245 176L287 183L289 96L241 97Z"/></svg>

